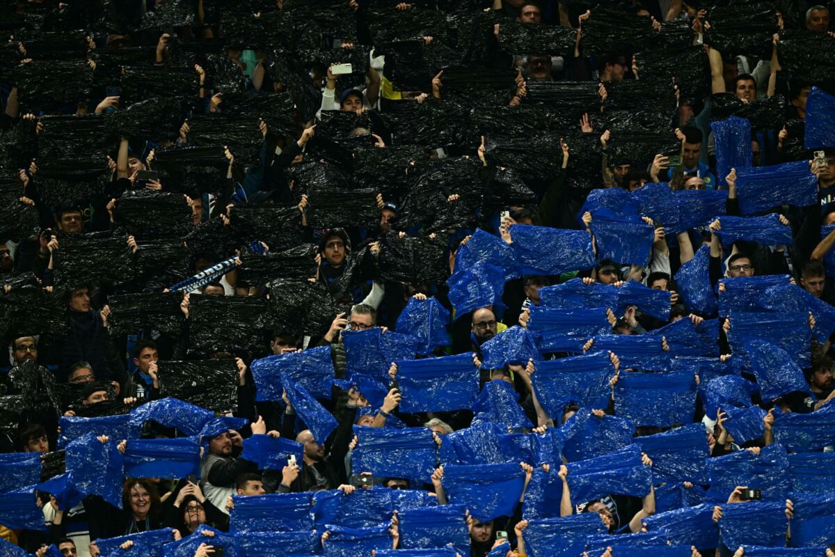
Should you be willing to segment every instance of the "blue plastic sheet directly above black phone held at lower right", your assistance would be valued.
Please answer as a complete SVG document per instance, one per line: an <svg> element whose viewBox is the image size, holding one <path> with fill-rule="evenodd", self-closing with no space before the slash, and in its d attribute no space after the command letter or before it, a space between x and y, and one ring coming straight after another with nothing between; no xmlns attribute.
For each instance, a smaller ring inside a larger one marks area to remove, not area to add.
<svg viewBox="0 0 835 557"><path fill-rule="evenodd" d="M786 499L791 487L786 449L779 444L768 445L759 454L738 451L708 458L706 466L711 484L707 500L712 502L726 502L737 485L761 489L762 499L767 501Z"/></svg>

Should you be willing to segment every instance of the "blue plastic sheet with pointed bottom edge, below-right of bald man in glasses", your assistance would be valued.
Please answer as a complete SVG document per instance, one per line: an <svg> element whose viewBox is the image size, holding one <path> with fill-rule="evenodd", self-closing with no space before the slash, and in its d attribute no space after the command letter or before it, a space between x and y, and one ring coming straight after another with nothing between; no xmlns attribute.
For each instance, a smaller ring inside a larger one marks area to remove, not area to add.
<svg viewBox="0 0 835 557"><path fill-rule="evenodd" d="M605 408L609 402L609 380L615 367L606 352L536 362L531 376L534 392L545 413L559 422L568 403L580 408Z"/></svg>

